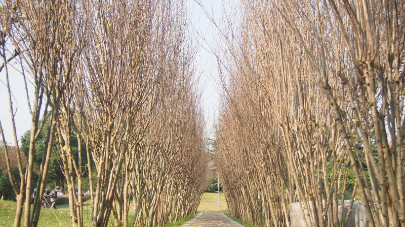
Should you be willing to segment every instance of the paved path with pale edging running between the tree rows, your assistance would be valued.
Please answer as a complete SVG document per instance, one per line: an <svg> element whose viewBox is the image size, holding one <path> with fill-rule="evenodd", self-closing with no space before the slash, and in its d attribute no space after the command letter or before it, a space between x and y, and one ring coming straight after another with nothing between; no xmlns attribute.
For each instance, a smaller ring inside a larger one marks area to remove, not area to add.
<svg viewBox="0 0 405 227"><path fill-rule="evenodd" d="M181 227L243 227L241 224L219 212L201 212Z"/></svg>

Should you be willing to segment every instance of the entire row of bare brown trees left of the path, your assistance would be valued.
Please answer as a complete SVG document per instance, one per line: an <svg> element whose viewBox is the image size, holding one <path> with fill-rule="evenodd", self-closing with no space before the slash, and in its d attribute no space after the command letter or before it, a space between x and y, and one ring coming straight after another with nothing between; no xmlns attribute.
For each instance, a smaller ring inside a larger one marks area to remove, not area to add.
<svg viewBox="0 0 405 227"><path fill-rule="evenodd" d="M73 226L83 226L82 172L90 182L92 226L163 226L193 214L207 185L208 156L184 1L2 1L1 70L9 94L14 143L15 104L9 78L18 62L32 117L14 226L37 226L52 143L60 150ZM33 92L32 92L33 90ZM44 118L49 114L49 127ZM41 120L42 119L42 120ZM39 182L32 182L35 142L46 130ZM5 144L1 127L2 141ZM72 149L72 132L86 144ZM7 167L7 146L4 146ZM76 160L74 153L79 154ZM91 181L91 177L89 178ZM18 187L19 185L19 187ZM30 205L33 188L34 205ZM24 214L23 214L24 210ZM129 210L134 219L129 220ZM23 218L23 220L22 220Z"/></svg>

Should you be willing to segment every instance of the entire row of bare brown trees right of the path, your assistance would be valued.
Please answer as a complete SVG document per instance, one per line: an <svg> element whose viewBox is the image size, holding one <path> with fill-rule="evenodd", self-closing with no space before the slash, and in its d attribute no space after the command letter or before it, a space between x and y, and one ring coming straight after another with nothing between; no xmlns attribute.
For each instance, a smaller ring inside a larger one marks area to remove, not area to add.
<svg viewBox="0 0 405 227"><path fill-rule="evenodd" d="M217 165L231 214L345 226L345 193L369 226L405 226L400 0L243 0L221 25ZM347 192L347 174L355 190Z"/></svg>

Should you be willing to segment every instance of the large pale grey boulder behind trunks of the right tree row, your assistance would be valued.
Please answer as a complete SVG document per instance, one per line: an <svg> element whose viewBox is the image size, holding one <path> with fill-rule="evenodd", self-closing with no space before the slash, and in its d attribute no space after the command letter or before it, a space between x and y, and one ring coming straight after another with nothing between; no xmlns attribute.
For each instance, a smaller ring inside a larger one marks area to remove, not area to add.
<svg viewBox="0 0 405 227"><path fill-rule="evenodd" d="M349 210L350 200L344 201L343 207L343 218L346 217L346 214ZM340 208L339 205L339 216ZM312 203L310 203L311 212ZM294 202L290 204L290 221L291 227L306 227L303 211L301 209L301 204L299 202ZM352 212L349 215L349 220L346 227L368 227L368 220L365 214L364 203L363 202L354 202L352 206Z"/></svg>

